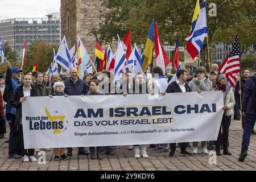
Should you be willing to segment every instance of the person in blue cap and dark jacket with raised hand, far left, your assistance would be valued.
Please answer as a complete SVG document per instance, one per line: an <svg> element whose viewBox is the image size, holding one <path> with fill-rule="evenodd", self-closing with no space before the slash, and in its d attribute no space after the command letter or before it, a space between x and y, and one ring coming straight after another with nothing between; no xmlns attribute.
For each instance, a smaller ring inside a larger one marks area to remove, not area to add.
<svg viewBox="0 0 256 182"><path fill-rule="evenodd" d="M18 79L18 72L22 72L18 67L11 67L9 61L6 61L7 72L5 80L5 92L3 93L3 100L7 102L6 105L6 119L10 120L10 134L9 134L9 158L20 158L19 133L15 127L16 108L11 106L11 99L14 92L22 83Z"/></svg>

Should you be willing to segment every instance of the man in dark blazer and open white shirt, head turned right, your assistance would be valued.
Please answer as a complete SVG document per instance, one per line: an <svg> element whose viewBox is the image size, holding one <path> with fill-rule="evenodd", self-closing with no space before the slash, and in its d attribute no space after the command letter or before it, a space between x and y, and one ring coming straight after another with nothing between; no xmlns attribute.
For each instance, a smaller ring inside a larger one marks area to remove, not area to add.
<svg viewBox="0 0 256 182"><path fill-rule="evenodd" d="M188 73L184 69L180 69L176 73L177 80L172 82L168 88L166 89L167 93L175 93L175 92L191 92L190 88L188 87L187 84L185 84L187 78L188 78ZM184 156L190 156L191 153L189 153L186 148L187 148L188 142L180 143L180 154ZM176 143L170 143L170 149L171 152L169 154L170 157L174 157L175 155L175 150L176 150Z"/></svg>

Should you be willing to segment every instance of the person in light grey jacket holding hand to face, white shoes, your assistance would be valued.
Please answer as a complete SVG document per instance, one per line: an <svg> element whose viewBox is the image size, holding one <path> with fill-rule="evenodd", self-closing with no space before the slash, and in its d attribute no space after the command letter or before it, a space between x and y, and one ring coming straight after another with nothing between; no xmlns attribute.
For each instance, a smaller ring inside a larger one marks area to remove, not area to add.
<svg viewBox="0 0 256 182"><path fill-rule="evenodd" d="M196 77L193 78L193 80L191 80L188 83L188 86L192 92L200 93L202 91L212 90L212 81L209 80L206 73L207 72L204 67L199 67L196 69ZM202 141L201 146L203 148L203 154L208 154L207 142ZM193 142L193 153L192 154L197 154L197 150L198 150L197 147L198 147L198 142Z"/></svg>

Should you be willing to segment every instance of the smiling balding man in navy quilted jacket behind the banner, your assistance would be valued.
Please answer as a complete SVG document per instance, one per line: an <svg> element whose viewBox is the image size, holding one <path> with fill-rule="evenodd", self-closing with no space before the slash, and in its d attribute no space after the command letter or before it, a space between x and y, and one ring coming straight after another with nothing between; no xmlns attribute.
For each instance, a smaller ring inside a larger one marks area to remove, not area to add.
<svg viewBox="0 0 256 182"><path fill-rule="evenodd" d="M88 92L87 86L86 86L86 83L78 77L77 69L76 68L71 68L69 70L69 75L70 75L70 78L68 78L68 80L64 81L64 84L65 84L64 92L65 92L65 94L68 94L69 96L85 95ZM67 156L71 156L73 148L68 147L67 150L68 150ZM80 155L89 155L89 152L87 152L84 149L84 147L79 147L78 154L80 154Z"/></svg>

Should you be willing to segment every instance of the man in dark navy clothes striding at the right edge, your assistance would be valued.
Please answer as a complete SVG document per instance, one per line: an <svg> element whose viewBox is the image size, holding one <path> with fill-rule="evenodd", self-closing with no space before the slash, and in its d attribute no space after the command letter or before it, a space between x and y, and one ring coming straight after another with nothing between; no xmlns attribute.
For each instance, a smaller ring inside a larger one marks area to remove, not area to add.
<svg viewBox="0 0 256 182"><path fill-rule="evenodd" d="M250 144L250 134L256 121L256 73L250 77L243 89L242 115L245 117L245 126L243 128L243 141L241 155L238 161L242 162L247 156L248 146Z"/></svg>

